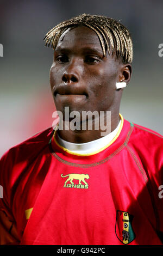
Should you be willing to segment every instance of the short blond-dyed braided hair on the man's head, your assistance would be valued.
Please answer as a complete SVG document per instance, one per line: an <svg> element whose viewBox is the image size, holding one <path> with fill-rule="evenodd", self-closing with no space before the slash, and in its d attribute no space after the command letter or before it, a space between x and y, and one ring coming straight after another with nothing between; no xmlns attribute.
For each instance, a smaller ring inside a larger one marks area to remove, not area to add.
<svg viewBox="0 0 163 256"><path fill-rule="evenodd" d="M128 29L120 22L101 15L82 14L59 23L45 35L43 39L46 42L45 46L51 44L55 50L60 36L68 28L78 26L86 26L96 32L101 42L104 56L106 55L106 49L108 49L109 54L110 52L111 54L115 53L117 58L120 57L122 59L122 63L131 63L133 61L133 43Z"/></svg>

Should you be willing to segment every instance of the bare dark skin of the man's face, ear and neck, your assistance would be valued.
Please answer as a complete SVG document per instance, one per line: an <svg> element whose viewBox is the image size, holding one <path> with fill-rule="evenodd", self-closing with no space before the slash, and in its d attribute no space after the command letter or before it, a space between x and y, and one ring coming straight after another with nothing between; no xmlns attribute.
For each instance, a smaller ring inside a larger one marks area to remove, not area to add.
<svg viewBox="0 0 163 256"><path fill-rule="evenodd" d="M54 51L50 70L51 90L57 111L111 111L111 131L119 121L123 89L116 82L129 83L131 65L106 51L103 55L97 34L85 26L67 29ZM62 139L85 143L101 138L101 130L58 130Z"/></svg>

